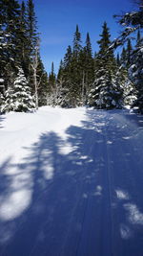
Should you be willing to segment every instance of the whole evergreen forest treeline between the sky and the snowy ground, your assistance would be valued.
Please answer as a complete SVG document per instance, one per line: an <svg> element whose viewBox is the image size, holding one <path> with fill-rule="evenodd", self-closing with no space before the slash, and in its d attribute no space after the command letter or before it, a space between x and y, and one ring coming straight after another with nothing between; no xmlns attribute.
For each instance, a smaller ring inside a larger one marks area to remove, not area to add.
<svg viewBox="0 0 143 256"><path fill-rule="evenodd" d="M41 105L100 109L136 106L143 112L143 1L116 17L122 33L111 40L104 22L92 52L78 25L60 62L58 74L47 74L40 57L40 35L32 0L0 0L0 111L31 111ZM121 53L114 50L121 47Z"/></svg>

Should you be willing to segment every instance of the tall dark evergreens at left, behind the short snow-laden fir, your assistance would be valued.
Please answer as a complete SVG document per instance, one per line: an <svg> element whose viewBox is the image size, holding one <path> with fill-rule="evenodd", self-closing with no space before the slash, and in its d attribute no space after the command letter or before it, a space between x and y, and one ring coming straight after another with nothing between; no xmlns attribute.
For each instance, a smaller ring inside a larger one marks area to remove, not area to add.
<svg viewBox="0 0 143 256"><path fill-rule="evenodd" d="M17 67L22 67L32 94L34 91L33 62L36 55L38 33L33 1L29 0L27 6L16 0L0 0L0 79L3 86L0 91L13 93L13 83L17 76ZM46 104L48 76L44 70L40 56L37 66L37 86L39 103ZM9 94L9 95L10 95ZM44 96L43 96L44 95ZM12 97L12 95L10 95Z"/></svg>

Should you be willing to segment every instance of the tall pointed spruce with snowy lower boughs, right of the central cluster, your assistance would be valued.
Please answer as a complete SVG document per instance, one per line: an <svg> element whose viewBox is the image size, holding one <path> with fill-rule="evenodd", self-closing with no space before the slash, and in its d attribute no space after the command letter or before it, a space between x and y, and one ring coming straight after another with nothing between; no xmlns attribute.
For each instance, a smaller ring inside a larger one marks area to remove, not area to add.
<svg viewBox="0 0 143 256"><path fill-rule="evenodd" d="M109 50L111 35L106 22L102 28L101 39L98 41L100 50L95 60L95 81L89 95L89 105L111 109L121 107L122 90L115 77L116 60L112 50Z"/></svg>

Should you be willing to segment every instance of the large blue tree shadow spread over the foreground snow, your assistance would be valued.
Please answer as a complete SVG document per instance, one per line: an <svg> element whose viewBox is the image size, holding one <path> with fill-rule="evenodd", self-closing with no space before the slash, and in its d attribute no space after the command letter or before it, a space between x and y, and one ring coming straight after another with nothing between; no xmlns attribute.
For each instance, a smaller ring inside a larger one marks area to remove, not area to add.
<svg viewBox="0 0 143 256"><path fill-rule="evenodd" d="M89 121L68 128L66 140L44 133L15 175L2 172L1 256L143 254L142 221L135 222L143 219L142 182L136 189L135 162L122 165L117 147L133 151L120 129L115 140L104 111L87 113Z"/></svg>

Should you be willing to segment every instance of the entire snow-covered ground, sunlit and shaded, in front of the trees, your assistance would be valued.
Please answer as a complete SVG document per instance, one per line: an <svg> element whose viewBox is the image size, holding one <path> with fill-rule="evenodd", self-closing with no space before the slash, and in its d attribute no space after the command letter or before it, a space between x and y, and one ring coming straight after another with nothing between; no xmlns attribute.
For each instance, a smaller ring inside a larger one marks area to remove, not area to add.
<svg viewBox="0 0 143 256"><path fill-rule="evenodd" d="M143 116L0 116L0 256L142 256Z"/></svg>

